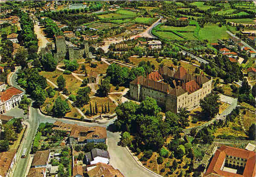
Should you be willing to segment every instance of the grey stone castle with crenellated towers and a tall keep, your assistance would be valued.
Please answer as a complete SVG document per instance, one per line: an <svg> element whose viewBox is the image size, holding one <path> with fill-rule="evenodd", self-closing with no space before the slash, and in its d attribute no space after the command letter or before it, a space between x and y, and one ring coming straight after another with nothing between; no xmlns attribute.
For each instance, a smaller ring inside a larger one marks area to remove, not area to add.
<svg viewBox="0 0 256 177"><path fill-rule="evenodd" d="M47 53L52 54L58 62L63 59L79 59L84 55L89 55L89 45L87 41L83 41L80 46L74 46L65 41L64 36L57 36L54 49L51 43L47 43L46 47L41 48L41 57Z"/></svg>

